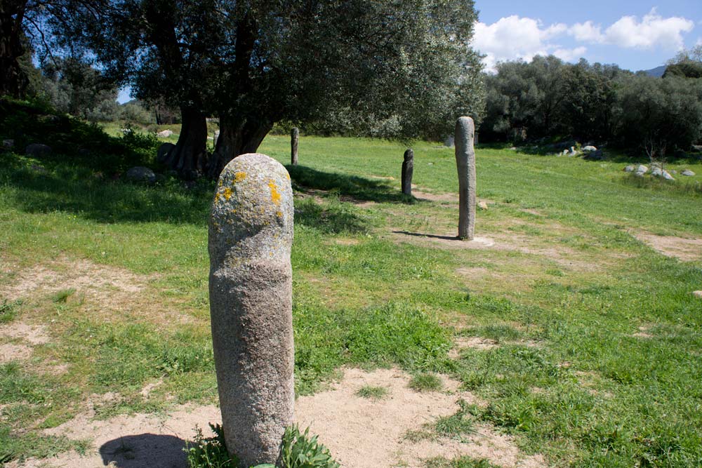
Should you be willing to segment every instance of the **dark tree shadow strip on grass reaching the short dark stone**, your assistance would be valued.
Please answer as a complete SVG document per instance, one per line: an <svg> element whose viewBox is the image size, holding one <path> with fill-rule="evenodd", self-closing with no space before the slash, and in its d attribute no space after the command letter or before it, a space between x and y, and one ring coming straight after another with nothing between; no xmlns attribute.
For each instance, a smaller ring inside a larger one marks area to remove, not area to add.
<svg viewBox="0 0 702 468"><path fill-rule="evenodd" d="M303 192L318 192L320 196L335 196L350 201L375 201L377 203L413 203L413 196L408 196L398 189L390 187L380 180L369 180L356 175L326 173L305 166L286 166L294 186Z"/></svg>

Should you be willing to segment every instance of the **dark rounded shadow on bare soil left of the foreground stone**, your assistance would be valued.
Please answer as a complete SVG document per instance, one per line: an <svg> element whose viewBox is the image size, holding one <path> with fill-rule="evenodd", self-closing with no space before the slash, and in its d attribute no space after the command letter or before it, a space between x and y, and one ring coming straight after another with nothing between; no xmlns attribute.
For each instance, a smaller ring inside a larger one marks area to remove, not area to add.
<svg viewBox="0 0 702 468"><path fill-rule="evenodd" d="M138 434L107 441L100 447L105 466L118 468L185 468L186 442L176 436Z"/></svg>

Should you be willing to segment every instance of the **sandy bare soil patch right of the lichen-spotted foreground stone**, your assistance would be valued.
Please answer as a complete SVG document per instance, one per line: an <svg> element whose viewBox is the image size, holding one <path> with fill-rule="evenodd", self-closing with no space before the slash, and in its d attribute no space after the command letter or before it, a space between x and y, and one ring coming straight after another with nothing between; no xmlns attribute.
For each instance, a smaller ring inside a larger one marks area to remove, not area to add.
<svg viewBox="0 0 702 468"><path fill-rule="evenodd" d="M409 441L408 430L422 429L437 417L456 413L458 399L479 403L470 392L418 393L407 387L409 375L397 369L366 373L346 369L343 380L326 392L302 396L296 402L300 424L311 432L344 468L423 467L432 457L454 458L462 455L485 457L502 467L543 467L541 456L525 456L508 436L488 426L463 441L444 439ZM445 388L457 389L456 382L444 379ZM356 392L365 385L385 387L388 397L364 399Z"/></svg>

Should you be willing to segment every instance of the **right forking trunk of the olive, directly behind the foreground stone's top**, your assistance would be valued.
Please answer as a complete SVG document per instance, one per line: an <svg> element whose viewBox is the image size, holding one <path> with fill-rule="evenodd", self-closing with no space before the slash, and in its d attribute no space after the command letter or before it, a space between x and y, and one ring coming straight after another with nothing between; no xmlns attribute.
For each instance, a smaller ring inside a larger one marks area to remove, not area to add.
<svg viewBox="0 0 702 468"><path fill-rule="evenodd" d="M216 179L224 166L239 154L254 153L273 124L265 119L220 114L220 135L209 160L207 177Z"/></svg>

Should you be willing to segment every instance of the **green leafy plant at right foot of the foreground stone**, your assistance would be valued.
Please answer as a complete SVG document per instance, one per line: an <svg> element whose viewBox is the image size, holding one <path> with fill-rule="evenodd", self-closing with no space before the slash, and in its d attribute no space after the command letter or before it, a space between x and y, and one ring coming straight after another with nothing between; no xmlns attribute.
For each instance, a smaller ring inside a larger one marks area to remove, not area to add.
<svg viewBox="0 0 702 468"><path fill-rule="evenodd" d="M297 424L285 429L280 448L280 468L339 468L329 449L310 438L310 428L300 432Z"/></svg>

